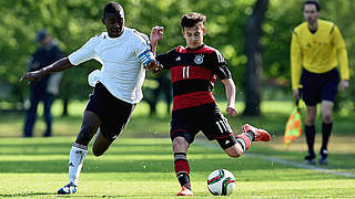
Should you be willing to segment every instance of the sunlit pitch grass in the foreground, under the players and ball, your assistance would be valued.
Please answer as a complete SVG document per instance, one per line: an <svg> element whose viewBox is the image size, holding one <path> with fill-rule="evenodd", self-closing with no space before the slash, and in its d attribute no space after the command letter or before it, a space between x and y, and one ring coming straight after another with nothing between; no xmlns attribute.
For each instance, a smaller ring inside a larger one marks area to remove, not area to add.
<svg viewBox="0 0 355 199"><path fill-rule="evenodd" d="M72 137L2 138L0 197L57 198L57 189L68 180L68 153L72 140ZM231 198L355 197L355 178L281 165L247 154L232 159L216 145L206 147L211 143L205 143L196 142L189 151L194 198L211 198L206 177L216 168L229 169L237 178ZM258 143L253 144L250 153L281 156L267 144ZM97 158L89 151L79 192L74 196L174 198L180 186L172 157L171 143L165 138L118 139L102 157ZM297 161L300 157L300 153L294 153L288 159ZM354 160L329 168L355 175L352 164Z"/></svg>

